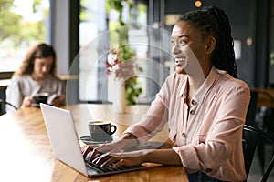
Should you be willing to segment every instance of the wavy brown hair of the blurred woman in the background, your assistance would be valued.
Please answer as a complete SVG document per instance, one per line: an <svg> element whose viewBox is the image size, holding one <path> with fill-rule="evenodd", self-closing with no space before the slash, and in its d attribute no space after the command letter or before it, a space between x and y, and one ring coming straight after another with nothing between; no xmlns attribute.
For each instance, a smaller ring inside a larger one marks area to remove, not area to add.
<svg viewBox="0 0 274 182"><path fill-rule="evenodd" d="M57 56L52 45L39 43L31 47L23 59L22 65L15 72L14 76L31 75L34 70L34 62L36 58L52 57L53 63L49 70L49 74L57 76Z"/></svg>

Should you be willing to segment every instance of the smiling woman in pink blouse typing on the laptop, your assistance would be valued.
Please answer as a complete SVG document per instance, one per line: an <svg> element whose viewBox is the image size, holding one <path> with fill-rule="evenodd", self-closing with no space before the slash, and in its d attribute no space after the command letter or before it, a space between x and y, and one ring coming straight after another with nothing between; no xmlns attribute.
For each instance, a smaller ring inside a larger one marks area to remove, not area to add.
<svg viewBox="0 0 274 182"><path fill-rule="evenodd" d="M216 6L187 13L174 25L171 41L176 71L142 122L111 144L83 148L83 156L100 167L181 165L189 181L244 181L242 130L250 96L237 79L227 15ZM172 148L125 150L144 144L165 123Z"/></svg>

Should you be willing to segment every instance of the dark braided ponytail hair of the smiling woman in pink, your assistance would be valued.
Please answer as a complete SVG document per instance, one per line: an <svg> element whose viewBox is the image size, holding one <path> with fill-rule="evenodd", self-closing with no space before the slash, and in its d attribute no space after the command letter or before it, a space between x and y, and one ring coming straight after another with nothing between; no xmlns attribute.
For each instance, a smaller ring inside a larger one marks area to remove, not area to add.
<svg viewBox="0 0 274 182"><path fill-rule="evenodd" d="M182 15L178 22L186 21L195 25L205 38L213 35L216 39L216 48L212 55L212 64L221 70L227 71L237 78L237 65L235 62L234 42L231 36L229 19L225 12L216 7L205 7Z"/></svg>

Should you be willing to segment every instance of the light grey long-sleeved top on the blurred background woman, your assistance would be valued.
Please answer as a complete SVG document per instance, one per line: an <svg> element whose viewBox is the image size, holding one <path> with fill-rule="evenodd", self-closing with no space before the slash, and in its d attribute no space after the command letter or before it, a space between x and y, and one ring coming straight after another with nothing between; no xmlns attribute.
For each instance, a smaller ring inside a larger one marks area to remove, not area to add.
<svg viewBox="0 0 274 182"><path fill-rule="evenodd" d="M26 96L35 96L37 93L45 92L49 96L65 95L64 83L58 77L52 75L47 75L43 81L39 82L30 75L17 76L7 86L5 100L16 107L20 107ZM11 106L6 106L7 111L11 110L11 108Z"/></svg>

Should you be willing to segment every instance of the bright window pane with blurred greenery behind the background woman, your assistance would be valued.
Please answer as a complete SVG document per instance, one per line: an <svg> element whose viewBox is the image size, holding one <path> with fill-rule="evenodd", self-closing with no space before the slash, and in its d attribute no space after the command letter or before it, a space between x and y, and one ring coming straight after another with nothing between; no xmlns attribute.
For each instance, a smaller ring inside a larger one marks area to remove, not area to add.
<svg viewBox="0 0 274 182"><path fill-rule="evenodd" d="M0 72L15 71L29 46L49 39L48 11L48 0L0 1Z"/></svg>

